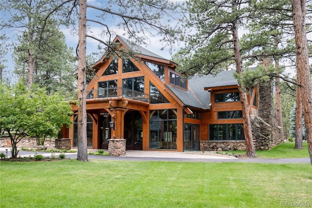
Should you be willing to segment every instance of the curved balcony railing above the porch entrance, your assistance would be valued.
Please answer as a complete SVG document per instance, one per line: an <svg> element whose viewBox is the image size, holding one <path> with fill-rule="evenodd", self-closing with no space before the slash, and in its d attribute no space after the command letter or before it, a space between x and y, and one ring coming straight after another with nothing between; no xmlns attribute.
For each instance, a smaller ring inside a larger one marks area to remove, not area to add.
<svg viewBox="0 0 312 208"><path fill-rule="evenodd" d="M87 99L91 98L111 98L122 96L124 98L149 102L148 94L122 87L109 87L101 89L87 90Z"/></svg>

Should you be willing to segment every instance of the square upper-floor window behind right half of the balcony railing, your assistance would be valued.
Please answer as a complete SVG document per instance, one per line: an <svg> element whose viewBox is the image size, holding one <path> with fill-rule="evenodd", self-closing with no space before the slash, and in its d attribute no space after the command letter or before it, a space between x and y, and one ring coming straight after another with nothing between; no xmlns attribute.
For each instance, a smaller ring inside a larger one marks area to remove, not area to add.
<svg viewBox="0 0 312 208"><path fill-rule="evenodd" d="M122 79L122 96L126 98L144 96L144 77Z"/></svg>

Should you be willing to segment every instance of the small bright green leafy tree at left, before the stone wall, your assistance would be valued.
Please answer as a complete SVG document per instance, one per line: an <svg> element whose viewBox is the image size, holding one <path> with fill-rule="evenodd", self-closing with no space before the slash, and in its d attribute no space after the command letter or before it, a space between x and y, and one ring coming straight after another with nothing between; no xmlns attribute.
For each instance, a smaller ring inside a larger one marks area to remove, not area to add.
<svg viewBox="0 0 312 208"><path fill-rule="evenodd" d="M0 97L0 124L11 138L14 158L25 136L56 136L63 124L71 124L71 105L58 93L48 96L38 86L27 90L22 82L14 86L0 83Z"/></svg>

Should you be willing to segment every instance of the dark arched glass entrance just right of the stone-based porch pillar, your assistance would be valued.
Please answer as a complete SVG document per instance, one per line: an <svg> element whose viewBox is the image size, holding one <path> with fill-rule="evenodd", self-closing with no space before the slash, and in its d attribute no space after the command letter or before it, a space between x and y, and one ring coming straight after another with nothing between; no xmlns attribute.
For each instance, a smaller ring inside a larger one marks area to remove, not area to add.
<svg viewBox="0 0 312 208"><path fill-rule="evenodd" d="M138 111L128 111L124 115L124 139L126 149L142 150L143 119Z"/></svg>

